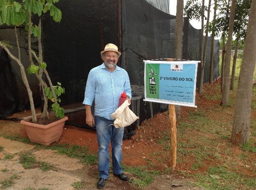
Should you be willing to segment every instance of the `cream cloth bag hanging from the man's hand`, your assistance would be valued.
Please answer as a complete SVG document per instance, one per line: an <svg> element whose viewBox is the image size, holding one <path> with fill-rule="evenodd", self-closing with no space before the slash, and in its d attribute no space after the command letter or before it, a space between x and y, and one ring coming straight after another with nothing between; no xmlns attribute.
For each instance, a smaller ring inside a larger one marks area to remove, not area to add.
<svg viewBox="0 0 256 190"><path fill-rule="evenodd" d="M130 110L129 105L128 100L125 100L125 102L118 107L114 113L111 114L111 118L115 119L114 126L116 128L131 125L139 118L132 112L132 110Z"/></svg>

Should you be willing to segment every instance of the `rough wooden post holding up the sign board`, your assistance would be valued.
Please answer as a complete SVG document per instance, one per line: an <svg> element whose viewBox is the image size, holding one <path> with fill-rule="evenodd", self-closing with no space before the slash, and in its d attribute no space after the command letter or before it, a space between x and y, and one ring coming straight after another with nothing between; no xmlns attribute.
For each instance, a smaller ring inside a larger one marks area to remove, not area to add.
<svg viewBox="0 0 256 190"><path fill-rule="evenodd" d="M173 58L167 59L167 61L174 61ZM170 118L170 145L171 145L171 168L176 167L176 153L177 153L177 138L176 138L176 114L175 114L175 105L168 106L169 108L169 118Z"/></svg>

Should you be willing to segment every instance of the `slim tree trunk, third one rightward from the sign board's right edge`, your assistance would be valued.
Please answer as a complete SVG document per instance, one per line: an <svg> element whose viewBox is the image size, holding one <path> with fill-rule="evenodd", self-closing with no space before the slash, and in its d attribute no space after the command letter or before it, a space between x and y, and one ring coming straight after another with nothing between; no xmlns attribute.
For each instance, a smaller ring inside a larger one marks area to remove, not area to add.
<svg viewBox="0 0 256 190"><path fill-rule="evenodd" d="M217 0L214 0L214 13L213 13L213 31L211 34L211 45L210 45L210 72L209 72L209 83L213 83L213 52L214 52L214 30L215 30L215 19L216 19Z"/></svg>

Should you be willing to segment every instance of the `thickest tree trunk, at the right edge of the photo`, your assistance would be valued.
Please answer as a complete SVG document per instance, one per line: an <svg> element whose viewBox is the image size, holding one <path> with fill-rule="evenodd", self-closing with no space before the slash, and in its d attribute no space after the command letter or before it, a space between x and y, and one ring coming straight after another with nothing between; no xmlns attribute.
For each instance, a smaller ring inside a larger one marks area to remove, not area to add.
<svg viewBox="0 0 256 190"><path fill-rule="evenodd" d="M253 72L256 61L256 0L252 0L241 64L231 142L239 145L249 141Z"/></svg>

